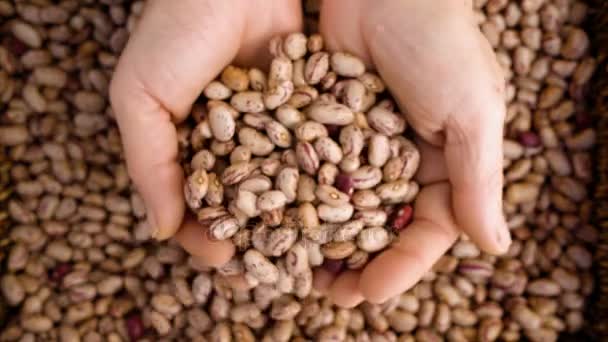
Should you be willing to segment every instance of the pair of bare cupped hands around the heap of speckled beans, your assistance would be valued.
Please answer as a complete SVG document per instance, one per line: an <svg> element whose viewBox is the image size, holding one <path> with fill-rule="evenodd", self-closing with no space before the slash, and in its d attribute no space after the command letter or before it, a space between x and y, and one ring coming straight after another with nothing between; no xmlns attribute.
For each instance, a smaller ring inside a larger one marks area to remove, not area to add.
<svg viewBox="0 0 608 342"><path fill-rule="evenodd" d="M152 235L200 265L235 253L185 215L176 124L228 64L266 67L268 42L302 29L299 0L149 0L118 63L110 97L129 174ZM363 270L315 271L335 304L383 302L412 287L464 232L492 254L511 242L502 213L504 78L471 0L325 0L332 51L361 56L417 134L422 185L411 225Z"/></svg>

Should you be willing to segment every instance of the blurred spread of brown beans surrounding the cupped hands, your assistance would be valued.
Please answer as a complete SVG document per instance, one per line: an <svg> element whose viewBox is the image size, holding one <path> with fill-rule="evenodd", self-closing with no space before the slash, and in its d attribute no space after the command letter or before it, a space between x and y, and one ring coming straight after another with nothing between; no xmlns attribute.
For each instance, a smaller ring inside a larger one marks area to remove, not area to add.
<svg viewBox="0 0 608 342"><path fill-rule="evenodd" d="M573 0L477 0L508 82L502 257L463 237L410 291L338 309L316 294L293 320L261 310L172 242L150 240L107 88L144 2L0 0L0 145L15 195L0 289L2 341L554 341L584 328L596 66ZM305 1L315 30L315 1Z"/></svg>

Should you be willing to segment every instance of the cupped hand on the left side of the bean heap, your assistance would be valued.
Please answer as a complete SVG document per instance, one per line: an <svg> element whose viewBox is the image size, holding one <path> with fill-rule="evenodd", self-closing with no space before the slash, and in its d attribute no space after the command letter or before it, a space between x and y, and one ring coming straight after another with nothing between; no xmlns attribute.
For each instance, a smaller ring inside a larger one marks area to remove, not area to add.
<svg viewBox="0 0 608 342"><path fill-rule="evenodd" d="M234 246L185 216L175 125L229 63L270 61L268 41L301 26L297 0L149 0L120 57L110 99L152 236L174 236L201 266L226 263Z"/></svg>

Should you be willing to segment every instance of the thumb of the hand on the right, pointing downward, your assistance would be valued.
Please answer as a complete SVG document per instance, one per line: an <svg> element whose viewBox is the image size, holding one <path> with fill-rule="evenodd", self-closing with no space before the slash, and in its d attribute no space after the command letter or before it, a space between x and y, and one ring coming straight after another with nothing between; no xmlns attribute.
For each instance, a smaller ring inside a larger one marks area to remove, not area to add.
<svg viewBox="0 0 608 342"><path fill-rule="evenodd" d="M500 111L497 106L487 108L486 113L502 117ZM502 211L502 119L474 123L466 117L450 119L446 127L445 160L453 187L452 205L467 235L484 251L501 254L511 244Z"/></svg>

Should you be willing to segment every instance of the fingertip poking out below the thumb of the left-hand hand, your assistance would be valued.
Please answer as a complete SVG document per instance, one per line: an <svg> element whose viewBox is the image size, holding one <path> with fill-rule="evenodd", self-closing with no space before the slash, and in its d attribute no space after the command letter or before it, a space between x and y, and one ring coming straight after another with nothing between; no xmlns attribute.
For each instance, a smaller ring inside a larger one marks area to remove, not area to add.
<svg viewBox="0 0 608 342"><path fill-rule="evenodd" d="M192 218L187 218L175 234L175 240L190 253L200 266L219 267L230 261L235 247L230 240L214 241L209 231Z"/></svg>

